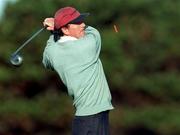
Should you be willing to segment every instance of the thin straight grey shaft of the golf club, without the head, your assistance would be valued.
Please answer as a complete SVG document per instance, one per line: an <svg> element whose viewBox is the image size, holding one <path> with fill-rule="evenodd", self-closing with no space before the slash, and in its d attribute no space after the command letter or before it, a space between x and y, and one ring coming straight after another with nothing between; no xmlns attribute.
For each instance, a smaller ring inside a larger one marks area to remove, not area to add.
<svg viewBox="0 0 180 135"><path fill-rule="evenodd" d="M45 27L38 30L36 33L34 33L28 40L26 40L14 53L13 55L16 55L24 46L26 46L33 38L35 38L39 33L41 33Z"/></svg>

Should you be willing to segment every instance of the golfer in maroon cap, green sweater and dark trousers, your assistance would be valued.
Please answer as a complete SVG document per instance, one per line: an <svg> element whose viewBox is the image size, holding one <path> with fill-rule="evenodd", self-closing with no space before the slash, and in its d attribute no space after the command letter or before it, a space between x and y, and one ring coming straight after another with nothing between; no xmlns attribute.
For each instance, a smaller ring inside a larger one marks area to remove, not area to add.
<svg viewBox="0 0 180 135"><path fill-rule="evenodd" d="M73 99L73 135L109 135L111 94L99 54L99 32L86 26L89 13L73 7L59 9L43 25L52 35L43 53L46 68L58 73Z"/></svg>

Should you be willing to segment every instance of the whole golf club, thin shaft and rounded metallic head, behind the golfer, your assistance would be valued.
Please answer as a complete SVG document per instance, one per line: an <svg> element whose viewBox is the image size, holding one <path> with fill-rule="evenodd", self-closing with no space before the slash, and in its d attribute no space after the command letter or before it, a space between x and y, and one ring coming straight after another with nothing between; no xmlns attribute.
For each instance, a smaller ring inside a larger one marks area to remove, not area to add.
<svg viewBox="0 0 180 135"><path fill-rule="evenodd" d="M10 62L14 66L20 66L23 62L23 57L19 55L19 51L23 49L32 39L39 35L46 27L41 28L33 34L27 41L25 41L10 57Z"/></svg>

